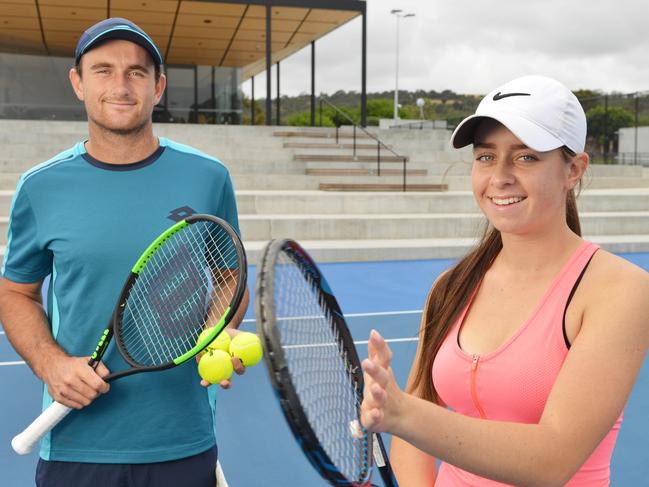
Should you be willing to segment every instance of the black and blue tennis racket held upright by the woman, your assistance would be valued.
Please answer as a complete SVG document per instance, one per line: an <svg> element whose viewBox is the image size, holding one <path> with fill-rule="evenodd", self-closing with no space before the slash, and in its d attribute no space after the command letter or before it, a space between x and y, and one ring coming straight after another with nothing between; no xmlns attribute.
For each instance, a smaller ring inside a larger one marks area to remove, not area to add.
<svg viewBox="0 0 649 487"><path fill-rule="evenodd" d="M297 242L264 249L255 306L271 383L311 464L332 485L368 486L374 457L396 486L381 437L361 426L363 374L340 306Z"/></svg>

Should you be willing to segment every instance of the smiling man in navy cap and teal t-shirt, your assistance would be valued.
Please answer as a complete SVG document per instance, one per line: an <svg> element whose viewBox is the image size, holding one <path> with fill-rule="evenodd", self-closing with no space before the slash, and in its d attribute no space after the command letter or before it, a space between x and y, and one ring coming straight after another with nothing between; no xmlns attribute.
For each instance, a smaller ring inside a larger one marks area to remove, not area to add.
<svg viewBox="0 0 649 487"><path fill-rule="evenodd" d="M45 383L44 406L83 408L43 439L36 483L213 486L214 398L196 367L128 377L105 394L102 377L123 360L111 346L93 370L85 355L129 269L163 230L191 213L238 229L232 183L216 159L154 136L166 80L142 29L120 18L99 22L79 39L75 61L70 82L85 104L89 138L21 177L0 281L0 320ZM233 326L247 304L246 295Z"/></svg>

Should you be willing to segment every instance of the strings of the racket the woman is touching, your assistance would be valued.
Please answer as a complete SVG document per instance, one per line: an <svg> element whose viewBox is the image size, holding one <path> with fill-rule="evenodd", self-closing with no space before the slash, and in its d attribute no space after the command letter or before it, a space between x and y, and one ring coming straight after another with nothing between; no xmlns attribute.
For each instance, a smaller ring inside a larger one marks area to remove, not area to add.
<svg viewBox="0 0 649 487"><path fill-rule="evenodd" d="M344 352L343 338L320 286L293 259L280 253L275 265L277 329L291 382L309 424L335 467L364 481L371 465L366 432L350 434L358 421L358 373Z"/></svg>

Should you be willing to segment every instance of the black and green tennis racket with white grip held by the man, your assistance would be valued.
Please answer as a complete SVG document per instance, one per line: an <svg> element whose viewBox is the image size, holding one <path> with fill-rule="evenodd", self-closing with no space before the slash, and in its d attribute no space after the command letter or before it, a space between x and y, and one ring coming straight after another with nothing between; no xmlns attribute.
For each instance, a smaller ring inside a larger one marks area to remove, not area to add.
<svg viewBox="0 0 649 487"><path fill-rule="evenodd" d="M236 314L246 274L241 240L224 220L193 215L176 223L131 269L88 365L97 366L113 336L130 368L111 373L107 382L191 360ZM211 333L197 342L206 328ZM11 446L28 453L71 410L53 402Z"/></svg>

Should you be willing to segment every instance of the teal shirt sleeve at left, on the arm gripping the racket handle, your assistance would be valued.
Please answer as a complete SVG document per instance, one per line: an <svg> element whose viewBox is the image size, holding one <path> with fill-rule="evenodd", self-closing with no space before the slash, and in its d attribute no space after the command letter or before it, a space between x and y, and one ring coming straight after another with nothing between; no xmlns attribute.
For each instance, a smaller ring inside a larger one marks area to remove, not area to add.
<svg viewBox="0 0 649 487"><path fill-rule="evenodd" d="M11 206L2 275L14 282L32 283L51 273L52 253L39 244L34 209L21 183Z"/></svg>

